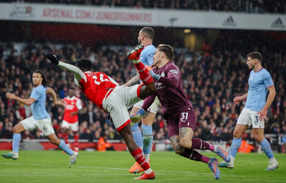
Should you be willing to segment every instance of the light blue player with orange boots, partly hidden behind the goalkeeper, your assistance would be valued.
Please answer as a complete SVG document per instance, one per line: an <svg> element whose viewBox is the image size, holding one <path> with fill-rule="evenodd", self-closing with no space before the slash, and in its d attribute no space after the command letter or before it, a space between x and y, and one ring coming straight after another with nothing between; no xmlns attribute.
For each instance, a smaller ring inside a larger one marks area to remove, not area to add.
<svg viewBox="0 0 286 183"><path fill-rule="evenodd" d="M154 30L150 27L144 27L140 30L138 35L138 45L144 45L144 49L142 50L139 60L144 64L151 66L153 64L153 56L156 51L155 46L152 45L154 38ZM138 74L130 79L124 86L133 86L138 84L140 81ZM141 109L144 100L135 104L130 112L130 114L136 113L138 110ZM143 112L142 118L139 119L137 123L131 124L131 131L133 134L133 138L136 144L142 149L143 155L148 161L150 157L150 151L153 143L153 128L152 124L155 119L157 108L159 105L159 99L156 97L154 103L150 106L150 108ZM138 123L142 120L142 132L138 126ZM141 166L136 162L129 170L131 173L139 173L143 171Z"/></svg>

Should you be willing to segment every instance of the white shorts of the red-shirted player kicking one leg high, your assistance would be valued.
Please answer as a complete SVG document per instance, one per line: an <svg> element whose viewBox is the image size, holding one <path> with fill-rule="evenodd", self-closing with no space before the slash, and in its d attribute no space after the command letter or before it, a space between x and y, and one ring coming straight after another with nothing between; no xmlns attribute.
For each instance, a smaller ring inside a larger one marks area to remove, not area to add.
<svg viewBox="0 0 286 183"><path fill-rule="evenodd" d="M103 109L109 112L117 131L124 128L131 121L127 109L141 100L137 96L139 86L117 86L102 101Z"/></svg>

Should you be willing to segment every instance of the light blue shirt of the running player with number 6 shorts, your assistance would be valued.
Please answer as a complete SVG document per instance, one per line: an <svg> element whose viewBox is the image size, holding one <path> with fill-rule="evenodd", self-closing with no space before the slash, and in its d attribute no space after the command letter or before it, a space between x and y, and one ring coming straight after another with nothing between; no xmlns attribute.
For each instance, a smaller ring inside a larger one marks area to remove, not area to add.
<svg viewBox="0 0 286 183"><path fill-rule="evenodd" d="M35 99L35 102L31 105L32 115L35 120L50 118L51 116L46 110L46 90L43 85L34 87L30 98Z"/></svg>

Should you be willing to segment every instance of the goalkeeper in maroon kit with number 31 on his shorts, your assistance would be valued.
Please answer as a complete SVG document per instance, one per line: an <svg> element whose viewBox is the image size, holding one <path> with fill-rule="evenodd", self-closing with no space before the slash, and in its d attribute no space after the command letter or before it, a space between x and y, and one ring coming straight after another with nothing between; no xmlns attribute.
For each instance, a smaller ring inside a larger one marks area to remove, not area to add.
<svg viewBox="0 0 286 183"><path fill-rule="evenodd" d="M162 105L163 116L167 122L170 141L175 153L208 164L215 179L219 179L218 159L206 157L194 149L211 150L226 162L230 161L230 155L221 146L192 138L195 131L196 114L183 90L180 69L173 62L170 62L172 57L173 49L171 46L158 46L153 57L154 66L156 67L154 70L147 67L154 79L156 93L147 97L142 108L136 114L131 115L130 119L137 122L157 96Z"/></svg>

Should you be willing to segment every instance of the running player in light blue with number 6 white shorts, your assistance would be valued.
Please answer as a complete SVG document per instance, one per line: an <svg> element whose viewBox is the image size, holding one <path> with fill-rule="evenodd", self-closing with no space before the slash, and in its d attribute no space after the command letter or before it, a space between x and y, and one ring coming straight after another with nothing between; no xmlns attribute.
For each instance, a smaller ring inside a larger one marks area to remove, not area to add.
<svg viewBox="0 0 286 183"><path fill-rule="evenodd" d="M25 105L31 106L32 116L24 119L13 127L13 151L8 154L1 155L7 159L17 160L19 158L18 151L21 140L21 133L27 130L31 131L36 128L39 128L42 130L43 134L50 141L50 143L55 144L60 149L70 155L69 164L74 164L77 159L78 153L72 151L63 140L59 140L57 138L57 136L55 135L55 131L52 127L51 116L46 111L46 93L49 93L52 96L53 101L56 105L63 106L64 100L62 99L61 101L57 101L56 93L52 88L47 87L48 81L46 79L46 75L42 71L34 71L32 75L32 81L34 87L29 99L17 97L12 93L6 94L7 98L15 99Z"/></svg>

